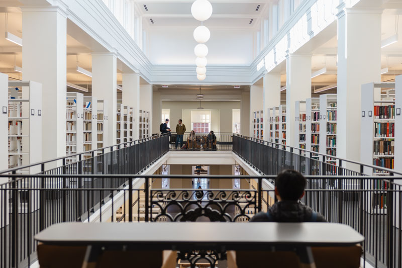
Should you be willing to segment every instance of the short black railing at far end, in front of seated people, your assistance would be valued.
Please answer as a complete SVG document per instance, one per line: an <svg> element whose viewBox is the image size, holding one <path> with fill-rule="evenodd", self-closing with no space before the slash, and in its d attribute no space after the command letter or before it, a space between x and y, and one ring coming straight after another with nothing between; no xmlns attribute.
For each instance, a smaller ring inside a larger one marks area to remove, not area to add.
<svg viewBox="0 0 402 268"><path fill-rule="evenodd" d="M177 148L185 151L232 151L232 133L184 133L183 147L180 148L178 143ZM170 149L176 149L177 135L171 133L170 135Z"/></svg>

